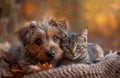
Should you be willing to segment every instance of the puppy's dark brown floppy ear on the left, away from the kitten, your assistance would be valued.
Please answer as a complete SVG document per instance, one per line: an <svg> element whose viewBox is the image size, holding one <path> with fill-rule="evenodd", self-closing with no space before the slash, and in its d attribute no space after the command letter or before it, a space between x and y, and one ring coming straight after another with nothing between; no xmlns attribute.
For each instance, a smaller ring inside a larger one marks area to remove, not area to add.
<svg viewBox="0 0 120 78"><path fill-rule="evenodd" d="M25 24L26 26L26 24ZM36 22L32 21L30 23L27 23L27 26L18 30L18 38L22 42L22 44L25 46L30 41L31 31L36 28Z"/></svg>

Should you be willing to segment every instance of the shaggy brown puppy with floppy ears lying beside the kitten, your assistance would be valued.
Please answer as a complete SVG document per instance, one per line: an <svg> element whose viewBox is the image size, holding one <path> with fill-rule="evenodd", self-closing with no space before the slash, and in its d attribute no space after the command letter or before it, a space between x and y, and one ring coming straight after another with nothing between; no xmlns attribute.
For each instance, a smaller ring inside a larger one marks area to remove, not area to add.
<svg viewBox="0 0 120 78"><path fill-rule="evenodd" d="M8 53L8 61L17 63L22 69L26 66L48 62L53 66L63 54L60 48L62 32L67 31L64 20L50 19L43 23L30 22L18 31L21 42L15 42Z"/></svg>

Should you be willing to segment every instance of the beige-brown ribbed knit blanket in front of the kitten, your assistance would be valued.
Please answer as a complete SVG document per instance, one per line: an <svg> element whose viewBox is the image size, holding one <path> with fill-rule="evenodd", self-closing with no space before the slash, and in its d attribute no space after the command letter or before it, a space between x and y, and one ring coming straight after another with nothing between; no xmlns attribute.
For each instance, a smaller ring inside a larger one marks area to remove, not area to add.
<svg viewBox="0 0 120 78"><path fill-rule="evenodd" d="M120 78L120 56L112 53L97 64L73 64L31 74L25 78Z"/></svg>

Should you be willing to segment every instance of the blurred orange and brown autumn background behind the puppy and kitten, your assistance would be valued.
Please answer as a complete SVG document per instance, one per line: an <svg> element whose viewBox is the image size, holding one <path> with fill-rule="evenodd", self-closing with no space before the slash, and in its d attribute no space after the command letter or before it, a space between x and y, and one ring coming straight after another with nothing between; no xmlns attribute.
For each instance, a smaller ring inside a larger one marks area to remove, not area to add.
<svg viewBox="0 0 120 78"><path fill-rule="evenodd" d="M89 42L120 50L120 0L0 0L0 44L9 46L22 21L66 18L72 32L88 27Z"/></svg>

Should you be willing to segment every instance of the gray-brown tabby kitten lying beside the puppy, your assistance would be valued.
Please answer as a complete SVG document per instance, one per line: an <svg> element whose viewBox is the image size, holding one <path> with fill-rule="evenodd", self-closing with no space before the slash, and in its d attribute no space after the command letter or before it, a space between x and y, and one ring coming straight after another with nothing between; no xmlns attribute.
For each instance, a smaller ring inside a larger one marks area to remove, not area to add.
<svg viewBox="0 0 120 78"><path fill-rule="evenodd" d="M93 63L104 57L103 49L95 43L88 43L87 29L80 34L64 33L61 48L64 50L61 64Z"/></svg>

